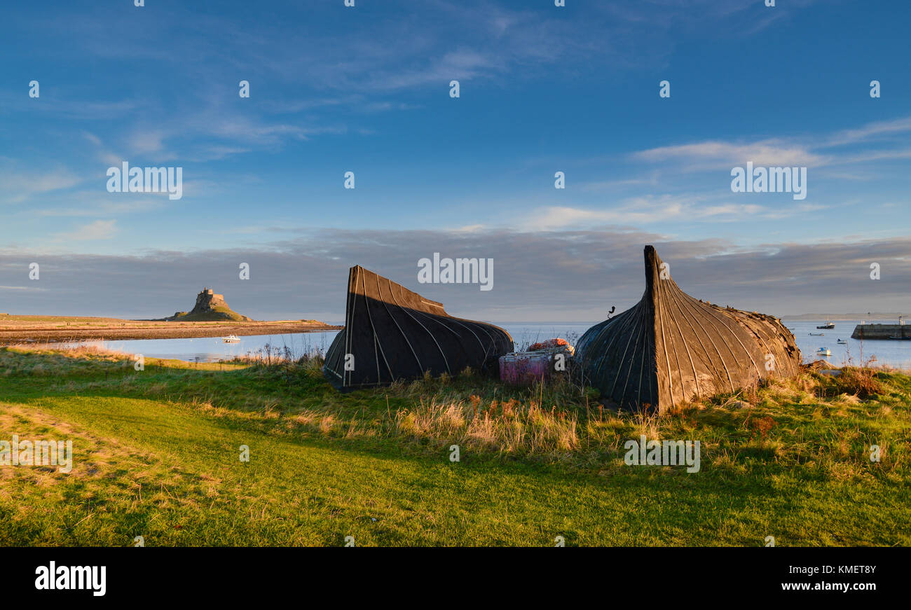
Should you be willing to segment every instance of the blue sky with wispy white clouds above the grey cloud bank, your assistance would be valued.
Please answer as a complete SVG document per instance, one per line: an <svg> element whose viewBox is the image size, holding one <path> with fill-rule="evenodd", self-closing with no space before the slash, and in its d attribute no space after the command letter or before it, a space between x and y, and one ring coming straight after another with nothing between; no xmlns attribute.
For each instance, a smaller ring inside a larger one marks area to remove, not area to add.
<svg viewBox="0 0 911 610"><path fill-rule="evenodd" d="M776 255L794 244L820 244L830 258L839 244L875 253L882 242L885 252L909 234L906 2L192 4L8 9L0 39L5 309L51 312L49 295L26 298L36 287L16 275L20 259L36 257L145 260L157 274L148 286L167 279L168 253L305 250L312 264L321 252L342 268L375 260L374 270L415 289L416 260L432 254L409 238L417 234L444 244L471 234L478 251L449 255L483 257L494 256L485 236L557 239L571 253L575 232L601 231L678 244L693 260ZM665 79L670 98L658 95ZM880 98L869 95L873 79ZM28 97L31 80L38 98ZM241 80L250 98L238 96ZM107 193L107 168L124 160L183 168L183 198ZM806 167L807 197L732 193L732 167L751 160ZM348 170L353 190L343 188ZM556 171L567 188L554 188ZM323 251L320 243L340 235L333 248L376 249ZM630 252L640 256L640 246ZM893 269L904 273L903 260ZM591 262L559 273L578 273L581 290L592 269L611 270ZM828 290L833 306L862 305L835 280ZM884 308L901 307L896 290L882 295ZM488 315L509 310L510 295L442 296ZM742 300L765 304L761 296L744 291ZM812 294L781 297L790 299L777 303L787 312L813 305ZM556 302L523 315L565 319ZM254 316L297 311L250 306ZM127 304L121 309L128 315Z"/></svg>

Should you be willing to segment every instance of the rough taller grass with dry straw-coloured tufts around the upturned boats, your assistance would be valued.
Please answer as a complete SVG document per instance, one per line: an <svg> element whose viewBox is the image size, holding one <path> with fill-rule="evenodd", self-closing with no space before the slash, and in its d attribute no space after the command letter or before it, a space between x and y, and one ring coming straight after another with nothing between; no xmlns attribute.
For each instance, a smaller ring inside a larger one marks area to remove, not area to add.
<svg viewBox="0 0 911 610"><path fill-rule="evenodd" d="M217 416L238 417L243 413L244 418L268 423L270 429L282 434L346 439L399 437L417 446L445 448L458 444L469 451L544 455L559 460L568 456L588 460L586 456L594 453L611 459L619 453L622 442L644 435L649 440L698 439L704 447L722 453L742 443L771 459L782 457L782 440L791 439L787 451L799 461L804 459L804 445L809 444L806 435L811 432L796 432L795 437L795 431L805 426L831 429L825 432L823 442L834 455L843 455L844 446L851 448L851 455L857 455L864 442L877 441L852 436L850 426L857 425L859 414L869 412L882 422L892 421L896 414L904 416L900 402L876 400L883 392L896 393L880 379L889 373L863 369L845 369L841 375L830 377L808 368L791 379L679 404L659 417L611 411L599 400L598 391L580 387L567 376L523 387L462 371L339 394L322 377L319 353L297 357L284 349L268 349L245 359L242 366L246 368L236 381L214 376L207 378L205 386L189 370L160 378L132 374L132 362L123 354L92 347L66 356L38 351L47 357L15 357L21 353L0 350L0 364L7 363L14 374L49 376L67 371L74 361L87 360L102 369L124 370L109 379L106 374L104 380L88 381L88 389L164 397ZM175 383L178 379L184 381ZM76 384L62 379L56 380L54 387L75 388ZM284 391L276 391L278 388ZM896 395L906 396L906 392ZM820 432L814 430L812 434L819 436Z"/></svg>

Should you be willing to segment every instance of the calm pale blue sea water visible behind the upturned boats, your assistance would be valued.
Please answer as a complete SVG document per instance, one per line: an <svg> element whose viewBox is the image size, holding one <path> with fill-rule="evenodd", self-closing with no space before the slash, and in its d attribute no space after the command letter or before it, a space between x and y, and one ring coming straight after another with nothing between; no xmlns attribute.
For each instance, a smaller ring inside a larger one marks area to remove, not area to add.
<svg viewBox="0 0 911 610"><path fill-rule="evenodd" d="M552 337L562 337L575 344L583 332L595 322L494 322L509 331L516 348L522 349L535 341ZM851 358L855 363L875 356L878 364L902 369L911 369L911 341L856 341L851 333L860 320L836 321L834 330L817 330L816 326L823 321L786 321L784 325L793 329L797 347L804 355L804 361L816 360L816 351L824 347L832 351L826 360L836 365L847 363ZM822 337L811 337L811 332L822 332ZM210 362L234 358L235 356L253 355L262 351L268 344L271 348L287 348L294 356L312 351L323 353L332 344L337 330L326 332L307 332L284 335L251 335L241 337L240 343L225 343L220 337L199 339L148 339L136 341L94 341L109 350L127 353L141 353L150 358L173 358L184 361ZM847 345L837 343L844 339ZM863 350L863 353L862 353Z"/></svg>

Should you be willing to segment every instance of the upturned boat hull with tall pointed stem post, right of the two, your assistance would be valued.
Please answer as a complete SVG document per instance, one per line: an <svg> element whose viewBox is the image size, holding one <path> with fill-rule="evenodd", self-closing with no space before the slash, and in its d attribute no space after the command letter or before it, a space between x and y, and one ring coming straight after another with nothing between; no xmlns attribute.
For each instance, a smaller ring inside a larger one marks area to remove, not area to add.
<svg viewBox="0 0 911 610"><path fill-rule="evenodd" d="M586 381L619 406L666 412L675 404L800 368L793 334L772 316L693 299L645 247L646 290L578 341Z"/></svg>

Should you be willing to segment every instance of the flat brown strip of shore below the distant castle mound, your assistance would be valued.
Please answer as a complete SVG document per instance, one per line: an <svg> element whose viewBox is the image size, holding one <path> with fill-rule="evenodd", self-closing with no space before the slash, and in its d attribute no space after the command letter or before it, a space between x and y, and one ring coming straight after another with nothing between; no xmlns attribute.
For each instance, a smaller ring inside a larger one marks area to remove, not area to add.
<svg viewBox="0 0 911 610"><path fill-rule="evenodd" d="M320 320L175 322L0 314L0 344L89 339L191 339L230 334L241 336L317 332L342 328Z"/></svg>

